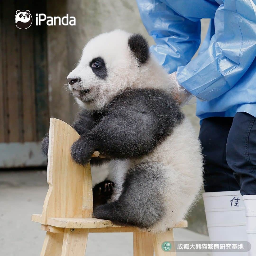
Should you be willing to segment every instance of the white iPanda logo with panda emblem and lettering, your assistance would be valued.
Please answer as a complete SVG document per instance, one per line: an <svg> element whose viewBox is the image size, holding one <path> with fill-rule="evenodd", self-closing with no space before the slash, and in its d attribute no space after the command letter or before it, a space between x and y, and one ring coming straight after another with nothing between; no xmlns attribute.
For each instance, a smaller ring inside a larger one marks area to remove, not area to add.
<svg viewBox="0 0 256 256"><path fill-rule="evenodd" d="M16 11L15 15L15 23L16 27L19 29L27 29L32 24L32 16L29 10L26 11ZM47 26L56 26L56 25L63 25L63 26L76 26L76 18L66 14L66 16L59 17L59 16L46 16L44 13L36 13L36 26L41 26L41 22L46 21Z"/></svg>

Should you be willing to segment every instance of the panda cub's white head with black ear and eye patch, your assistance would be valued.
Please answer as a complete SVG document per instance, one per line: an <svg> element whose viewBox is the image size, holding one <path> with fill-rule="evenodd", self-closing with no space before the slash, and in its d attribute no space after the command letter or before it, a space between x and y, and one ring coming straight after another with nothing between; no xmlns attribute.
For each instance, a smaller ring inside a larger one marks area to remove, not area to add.
<svg viewBox="0 0 256 256"><path fill-rule="evenodd" d="M67 80L78 104L94 111L104 108L121 90L156 87L163 84L159 80L168 80L166 76L152 60L142 35L114 30L86 44L77 67Z"/></svg>

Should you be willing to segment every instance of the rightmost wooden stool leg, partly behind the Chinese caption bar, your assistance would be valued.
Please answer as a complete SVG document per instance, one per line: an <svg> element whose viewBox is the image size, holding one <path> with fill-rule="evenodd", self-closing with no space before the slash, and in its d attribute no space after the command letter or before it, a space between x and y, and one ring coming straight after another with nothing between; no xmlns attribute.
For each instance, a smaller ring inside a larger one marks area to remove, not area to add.
<svg viewBox="0 0 256 256"><path fill-rule="evenodd" d="M152 236L153 246L155 251L155 256L176 256L176 252L167 252L162 249L163 242L173 242L172 247L174 247L174 237L173 237L173 229L170 229L164 233L154 234Z"/></svg>

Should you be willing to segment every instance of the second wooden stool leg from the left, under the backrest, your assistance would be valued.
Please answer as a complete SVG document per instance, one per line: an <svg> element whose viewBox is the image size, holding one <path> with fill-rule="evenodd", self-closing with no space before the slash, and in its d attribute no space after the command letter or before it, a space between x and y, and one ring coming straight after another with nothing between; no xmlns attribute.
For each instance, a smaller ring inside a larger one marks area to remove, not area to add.
<svg viewBox="0 0 256 256"><path fill-rule="evenodd" d="M61 256L84 256L89 228L71 230L65 228Z"/></svg>

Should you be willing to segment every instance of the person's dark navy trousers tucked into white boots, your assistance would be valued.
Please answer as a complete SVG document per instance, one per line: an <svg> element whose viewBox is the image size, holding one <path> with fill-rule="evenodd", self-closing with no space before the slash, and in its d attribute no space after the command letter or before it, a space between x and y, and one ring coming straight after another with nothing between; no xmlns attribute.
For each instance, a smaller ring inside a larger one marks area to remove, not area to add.
<svg viewBox="0 0 256 256"><path fill-rule="evenodd" d="M256 194L256 121L238 112L231 117L206 118L201 123L205 192L240 190Z"/></svg>

